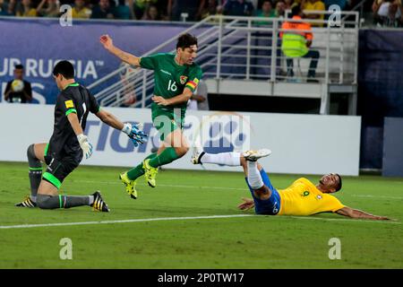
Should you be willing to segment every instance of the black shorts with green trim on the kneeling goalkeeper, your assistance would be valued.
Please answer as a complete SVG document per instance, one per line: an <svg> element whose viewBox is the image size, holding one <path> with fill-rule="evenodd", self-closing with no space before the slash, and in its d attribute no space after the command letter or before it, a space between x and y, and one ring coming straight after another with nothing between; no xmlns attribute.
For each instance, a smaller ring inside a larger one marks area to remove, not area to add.
<svg viewBox="0 0 403 287"><path fill-rule="evenodd" d="M47 171L43 174L43 179L50 182L59 189L66 178L80 164L80 157L64 156L61 158L49 155L45 156Z"/></svg>

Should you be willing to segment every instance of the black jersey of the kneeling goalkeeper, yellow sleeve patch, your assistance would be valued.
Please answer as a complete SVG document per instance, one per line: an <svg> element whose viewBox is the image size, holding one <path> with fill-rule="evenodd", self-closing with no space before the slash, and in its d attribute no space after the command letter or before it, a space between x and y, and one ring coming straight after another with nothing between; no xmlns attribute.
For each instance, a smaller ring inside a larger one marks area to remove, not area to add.
<svg viewBox="0 0 403 287"><path fill-rule="evenodd" d="M85 87L71 83L61 91L56 99L55 126L46 155L58 159L65 156L80 157L81 161L80 144L67 116L70 113L77 114L84 130L89 112L98 113L99 104Z"/></svg>

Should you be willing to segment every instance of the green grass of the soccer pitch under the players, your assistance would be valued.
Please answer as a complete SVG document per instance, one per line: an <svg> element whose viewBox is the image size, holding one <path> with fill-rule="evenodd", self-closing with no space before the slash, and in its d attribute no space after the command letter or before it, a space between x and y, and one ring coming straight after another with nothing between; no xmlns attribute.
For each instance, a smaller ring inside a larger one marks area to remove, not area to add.
<svg viewBox="0 0 403 287"><path fill-rule="evenodd" d="M26 163L0 162L0 226L156 221L0 228L0 268L402 268L403 178L344 178L336 194L343 204L396 221L350 220L337 214L309 217L255 216L236 209L249 191L238 172L162 170L157 187L138 183L139 198L124 191L124 168L79 167L62 193L101 190L111 213L83 206L42 211L13 204L29 194ZM267 169L269 170L269 169ZM275 187L298 176L271 175ZM318 176L307 176L316 182ZM208 218L211 215L244 217ZM196 217L200 219L177 219ZM73 241L73 259L59 257L60 239ZM330 260L331 238L341 259Z"/></svg>

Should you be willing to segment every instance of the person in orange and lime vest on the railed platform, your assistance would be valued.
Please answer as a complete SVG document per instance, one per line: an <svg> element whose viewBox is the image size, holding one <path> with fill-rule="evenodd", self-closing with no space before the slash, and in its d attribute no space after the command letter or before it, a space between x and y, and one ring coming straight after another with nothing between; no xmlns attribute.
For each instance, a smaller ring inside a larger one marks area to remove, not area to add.
<svg viewBox="0 0 403 287"><path fill-rule="evenodd" d="M302 20L304 13L301 10L301 6L296 5L292 9L292 20ZM316 67L318 65L318 59L320 57L319 51L310 49L313 41L312 32L305 32L305 30L312 30L311 24L308 22L284 22L281 26L280 32L281 50L287 57L287 76L293 77L293 63L294 58L304 57L312 58L309 65L308 81L311 83L317 83L315 78ZM289 30L289 32L287 32ZM301 31L298 31L301 30Z"/></svg>

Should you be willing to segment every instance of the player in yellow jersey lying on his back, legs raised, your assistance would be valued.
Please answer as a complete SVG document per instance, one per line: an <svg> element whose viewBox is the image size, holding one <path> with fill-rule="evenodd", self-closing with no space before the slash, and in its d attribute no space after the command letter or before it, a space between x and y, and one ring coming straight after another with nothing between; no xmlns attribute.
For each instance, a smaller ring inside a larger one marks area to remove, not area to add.
<svg viewBox="0 0 403 287"><path fill-rule="evenodd" d="M210 154L196 152L193 154L194 164L216 163L231 166L241 165L244 168L245 180L253 199L243 198L238 205L241 210L254 207L255 213L266 215L313 215L316 213L338 213L351 218L388 220L387 217L350 208L341 204L331 194L341 189L341 177L337 173L322 176L317 185L306 178L298 178L286 189L277 190L271 185L270 178L257 162L258 159L270 155L271 151L262 149L247 152L223 152Z"/></svg>

